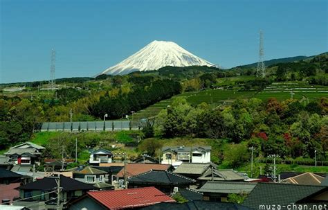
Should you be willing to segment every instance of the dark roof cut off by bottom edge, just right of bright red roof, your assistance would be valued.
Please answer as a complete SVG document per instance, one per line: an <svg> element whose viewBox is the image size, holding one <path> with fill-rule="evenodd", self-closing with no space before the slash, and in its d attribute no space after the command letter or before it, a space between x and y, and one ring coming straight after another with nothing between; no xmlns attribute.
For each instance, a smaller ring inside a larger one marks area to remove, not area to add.
<svg viewBox="0 0 328 210"><path fill-rule="evenodd" d="M159 203L153 206L143 207L142 210L253 210L239 204L231 202L210 202L204 200L194 200L185 203Z"/></svg>

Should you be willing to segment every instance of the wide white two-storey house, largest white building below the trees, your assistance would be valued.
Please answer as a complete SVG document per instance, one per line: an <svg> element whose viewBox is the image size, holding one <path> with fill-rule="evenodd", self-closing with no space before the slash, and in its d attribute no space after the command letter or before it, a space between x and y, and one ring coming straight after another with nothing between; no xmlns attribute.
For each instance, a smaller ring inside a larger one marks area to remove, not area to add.
<svg viewBox="0 0 328 210"><path fill-rule="evenodd" d="M165 146L162 164L179 166L182 163L209 163L211 146Z"/></svg>

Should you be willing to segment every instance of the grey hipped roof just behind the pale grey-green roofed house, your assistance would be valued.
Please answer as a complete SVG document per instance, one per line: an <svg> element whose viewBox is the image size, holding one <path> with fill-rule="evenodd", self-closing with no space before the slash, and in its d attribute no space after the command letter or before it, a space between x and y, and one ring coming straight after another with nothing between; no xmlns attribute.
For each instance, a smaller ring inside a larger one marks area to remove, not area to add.
<svg viewBox="0 0 328 210"><path fill-rule="evenodd" d="M212 170L207 170L199 180L212 180ZM213 180L215 181L238 181L245 180L245 177L233 169L213 170Z"/></svg>

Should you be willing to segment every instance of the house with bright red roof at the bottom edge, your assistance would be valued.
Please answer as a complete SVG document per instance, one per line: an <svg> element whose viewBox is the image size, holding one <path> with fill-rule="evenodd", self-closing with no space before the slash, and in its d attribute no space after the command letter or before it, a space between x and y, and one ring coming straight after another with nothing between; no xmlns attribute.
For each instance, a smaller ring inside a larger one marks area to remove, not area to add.
<svg viewBox="0 0 328 210"><path fill-rule="evenodd" d="M175 200L151 186L118 191L88 192L82 198L72 202L69 209L139 209L161 202L175 202Z"/></svg>

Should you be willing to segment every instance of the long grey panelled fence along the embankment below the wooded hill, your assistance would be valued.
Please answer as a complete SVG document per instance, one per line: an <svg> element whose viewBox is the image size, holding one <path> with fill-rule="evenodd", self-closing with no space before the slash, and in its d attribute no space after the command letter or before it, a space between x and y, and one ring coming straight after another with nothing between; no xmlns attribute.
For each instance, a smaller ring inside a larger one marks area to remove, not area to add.
<svg viewBox="0 0 328 210"><path fill-rule="evenodd" d="M82 122L46 122L41 123L36 131L111 131L140 130L137 121L82 121Z"/></svg>

